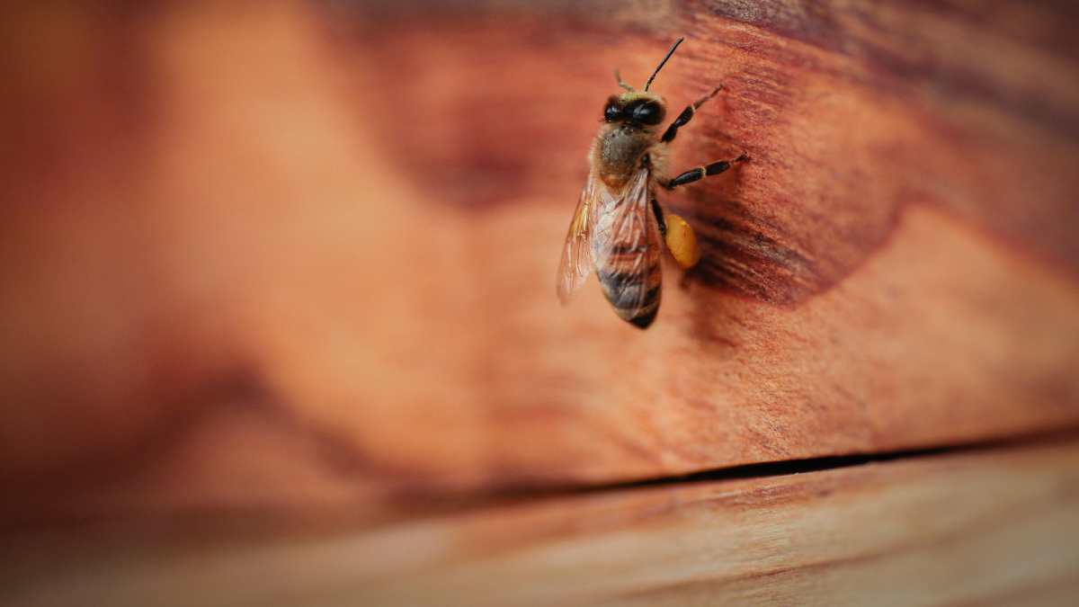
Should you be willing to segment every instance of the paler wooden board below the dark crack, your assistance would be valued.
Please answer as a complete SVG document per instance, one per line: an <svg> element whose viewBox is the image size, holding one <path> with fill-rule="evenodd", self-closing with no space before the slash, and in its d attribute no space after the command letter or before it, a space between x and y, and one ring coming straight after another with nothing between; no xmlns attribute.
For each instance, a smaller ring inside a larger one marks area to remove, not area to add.
<svg viewBox="0 0 1079 607"><path fill-rule="evenodd" d="M359 534L127 550L10 607L1058 606L1079 593L1079 442L638 487Z"/></svg>

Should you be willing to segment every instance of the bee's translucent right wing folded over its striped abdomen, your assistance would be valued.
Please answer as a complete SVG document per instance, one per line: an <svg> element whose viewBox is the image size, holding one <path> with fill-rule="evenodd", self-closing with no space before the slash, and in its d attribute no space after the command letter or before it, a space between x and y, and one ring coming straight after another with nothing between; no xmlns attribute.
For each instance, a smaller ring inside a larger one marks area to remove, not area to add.
<svg viewBox="0 0 1079 607"><path fill-rule="evenodd" d="M606 273L601 276L604 292L619 315L632 319L650 304L651 284L659 279L655 269L659 261L658 224L648 203L651 172L642 167L633 175L622 201L615 205L606 238L596 239L596 267ZM654 299L654 295L652 296Z"/></svg>

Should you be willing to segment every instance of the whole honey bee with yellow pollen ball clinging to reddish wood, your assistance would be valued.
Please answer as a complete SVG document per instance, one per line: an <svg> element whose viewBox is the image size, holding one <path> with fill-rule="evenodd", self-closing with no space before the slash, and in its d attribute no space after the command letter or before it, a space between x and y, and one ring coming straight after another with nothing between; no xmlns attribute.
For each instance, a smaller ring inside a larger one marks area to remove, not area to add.
<svg viewBox="0 0 1079 607"><path fill-rule="evenodd" d="M656 319L663 288L659 265L666 242L675 262L689 268L699 259L697 240L677 215L664 218L655 189L673 190L707 175L719 175L736 162L749 158L721 160L668 178L667 145L694 112L723 89L716 86L699 102L685 108L660 136L659 124L667 116L664 98L648 86L684 38L671 46L659 66L636 91L615 78L625 93L611 95L603 107L604 124L592 141L590 170L581 201L570 222L558 270L558 297L568 306L581 291L592 268L603 295L623 320L647 328Z"/></svg>

